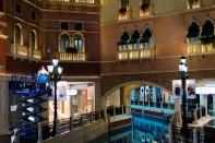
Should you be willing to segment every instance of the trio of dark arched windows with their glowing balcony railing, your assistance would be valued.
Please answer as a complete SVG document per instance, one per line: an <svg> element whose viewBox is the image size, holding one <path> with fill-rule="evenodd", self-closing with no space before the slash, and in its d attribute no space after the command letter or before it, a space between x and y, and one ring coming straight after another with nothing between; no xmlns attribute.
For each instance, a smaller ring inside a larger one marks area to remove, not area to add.
<svg viewBox="0 0 215 143"><path fill-rule="evenodd" d="M118 45L119 60L142 60L154 57L154 39L148 28L143 32L142 36L138 31L134 31L131 38L124 32Z"/></svg>

